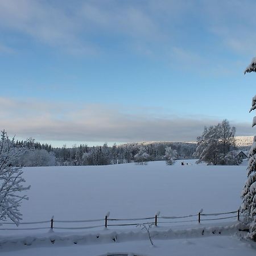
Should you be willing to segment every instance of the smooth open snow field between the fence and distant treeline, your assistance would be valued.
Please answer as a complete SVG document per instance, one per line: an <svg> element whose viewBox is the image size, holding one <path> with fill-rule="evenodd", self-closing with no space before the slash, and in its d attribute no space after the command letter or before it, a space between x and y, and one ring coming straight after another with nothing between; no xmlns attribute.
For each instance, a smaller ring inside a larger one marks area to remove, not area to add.
<svg viewBox="0 0 256 256"><path fill-rule="evenodd" d="M184 166L181 166L184 162ZM187 165L188 163L188 165ZM28 167L30 200L22 205L23 222L139 218L237 210L246 168L197 165L195 160L146 166ZM228 188L228 189L226 189ZM178 196L179 195L179 196ZM177 198L178 197L178 198Z"/></svg>

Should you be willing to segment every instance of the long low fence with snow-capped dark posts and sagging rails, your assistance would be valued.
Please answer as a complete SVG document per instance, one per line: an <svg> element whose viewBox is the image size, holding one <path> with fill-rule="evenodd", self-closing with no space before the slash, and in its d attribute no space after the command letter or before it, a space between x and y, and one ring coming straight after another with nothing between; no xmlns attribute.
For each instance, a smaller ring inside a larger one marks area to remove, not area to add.
<svg viewBox="0 0 256 256"><path fill-rule="evenodd" d="M218 217L218 218L204 218L208 216L221 216L227 214L234 214L236 215L227 216L227 217ZM33 222L21 222L19 225L35 225L35 224L49 224L49 226L39 226L33 228L5 228L4 225L15 225L14 222L2 222L0 223L1 227L0 230L37 230L37 229L93 229L93 228L108 228L108 226L137 226L137 225L145 225L145 224L154 224L158 226L158 224L171 224L171 223L184 223L184 222L199 222L202 221L215 221L215 220L225 220L229 218L237 218L237 221L240 221L240 218L243 217L240 214L240 210L236 210L233 212L222 212L222 213L202 213L202 210L198 214L191 214L187 216L159 216L159 212L155 214L154 217L146 217L146 218L109 218L109 213L106 214L105 218L98 218L95 220L55 220L53 217L51 220L46 221L33 221ZM194 218L197 217L197 218ZM184 218L193 218L192 220L177 220L176 219L184 219ZM160 220L160 221L159 221ZM164 220L172 220L172 221L164 221ZM117 223L112 224L112 222L122 222L122 221L137 221L135 223ZM139 222L143 221L143 222ZM150 222L145 222L150 221ZM77 226L77 227L63 227L63 226L54 226L56 223L85 223L85 222L102 222L101 225L94 225L94 226Z"/></svg>

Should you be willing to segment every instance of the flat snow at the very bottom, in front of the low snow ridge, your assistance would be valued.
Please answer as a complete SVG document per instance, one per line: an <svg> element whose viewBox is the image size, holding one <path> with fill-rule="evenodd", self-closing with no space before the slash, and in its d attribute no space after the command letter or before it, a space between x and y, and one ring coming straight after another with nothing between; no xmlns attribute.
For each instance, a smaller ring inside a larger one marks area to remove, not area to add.
<svg viewBox="0 0 256 256"><path fill-rule="evenodd" d="M149 246L149 241L108 243L104 246L98 245L51 245L49 247L28 247L18 251L5 251L5 256L106 256L119 252L129 255L141 256L254 256L255 245L240 241L236 237L205 237L188 238L184 240L162 240L156 246ZM107 254L109 252L109 254Z"/></svg>

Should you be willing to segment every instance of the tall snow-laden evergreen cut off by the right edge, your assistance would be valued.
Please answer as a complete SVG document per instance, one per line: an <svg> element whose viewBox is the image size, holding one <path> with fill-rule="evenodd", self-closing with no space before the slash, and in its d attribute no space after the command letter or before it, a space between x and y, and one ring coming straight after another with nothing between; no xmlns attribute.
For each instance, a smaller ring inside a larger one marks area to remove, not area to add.
<svg viewBox="0 0 256 256"><path fill-rule="evenodd" d="M256 72L256 58L245 69L245 73ZM256 109L256 95L251 102L250 112ZM253 127L256 125L256 117L253 118ZM249 238L256 242L256 136L249 151L247 167L247 181L242 191L241 209L249 222Z"/></svg>

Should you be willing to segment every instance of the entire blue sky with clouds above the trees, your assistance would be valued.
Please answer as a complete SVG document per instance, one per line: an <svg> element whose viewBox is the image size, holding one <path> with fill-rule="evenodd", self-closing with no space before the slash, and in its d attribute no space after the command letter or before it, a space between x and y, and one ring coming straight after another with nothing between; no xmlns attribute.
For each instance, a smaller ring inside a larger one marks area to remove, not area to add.
<svg viewBox="0 0 256 256"><path fill-rule="evenodd" d="M0 127L53 146L254 135L256 2L0 0Z"/></svg>

